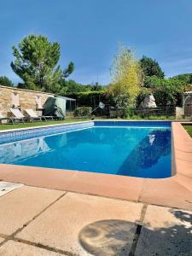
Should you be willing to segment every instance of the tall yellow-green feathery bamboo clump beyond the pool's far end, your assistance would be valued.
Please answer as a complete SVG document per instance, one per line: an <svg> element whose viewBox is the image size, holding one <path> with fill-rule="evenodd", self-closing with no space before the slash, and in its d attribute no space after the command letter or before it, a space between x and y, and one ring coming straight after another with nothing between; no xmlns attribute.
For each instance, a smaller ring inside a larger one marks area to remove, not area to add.
<svg viewBox="0 0 192 256"><path fill-rule="evenodd" d="M111 75L109 94L113 96L115 106L134 107L140 86L143 84L143 71L131 49L120 46L118 54L113 59Z"/></svg>

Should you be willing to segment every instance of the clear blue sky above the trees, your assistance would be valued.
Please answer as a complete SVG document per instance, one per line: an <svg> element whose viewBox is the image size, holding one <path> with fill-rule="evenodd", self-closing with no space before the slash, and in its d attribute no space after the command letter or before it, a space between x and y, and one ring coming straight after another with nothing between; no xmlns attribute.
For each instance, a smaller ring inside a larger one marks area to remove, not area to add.
<svg viewBox="0 0 192 256"><path fill-rule="evenodd" d="M192 73L191 0L1 1L0 76L18 82L12 46L30 33L58 41L61 67L73 61L70 79L82 84L108 84L119 42L155 58L167 77Z"/></svg>

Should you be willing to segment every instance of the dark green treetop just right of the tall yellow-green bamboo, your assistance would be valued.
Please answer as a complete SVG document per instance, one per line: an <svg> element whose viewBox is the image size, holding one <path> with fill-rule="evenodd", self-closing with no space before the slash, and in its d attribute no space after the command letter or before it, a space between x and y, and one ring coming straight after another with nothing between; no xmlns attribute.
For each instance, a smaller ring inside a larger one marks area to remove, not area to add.
<svg viewBox="0 0 192 256"><path fill-rule="evenodd" d="M164 79L165 74L162 72L160 65L157 61L143 55L140 63L143 69L143 73L146 77L156 76L160 79Z"/></svg>

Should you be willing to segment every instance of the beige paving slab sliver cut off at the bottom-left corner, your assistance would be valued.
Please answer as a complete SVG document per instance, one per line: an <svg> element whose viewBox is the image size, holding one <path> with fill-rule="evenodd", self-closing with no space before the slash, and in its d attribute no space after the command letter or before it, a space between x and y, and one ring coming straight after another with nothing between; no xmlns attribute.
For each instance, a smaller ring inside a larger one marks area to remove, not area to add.
<svg viewBox="0 0 192 256"><path fill-rule="evenodd" d="M7 241L0 247L1 256L65 256L40 247L34 247L18 241Z"/></svg>

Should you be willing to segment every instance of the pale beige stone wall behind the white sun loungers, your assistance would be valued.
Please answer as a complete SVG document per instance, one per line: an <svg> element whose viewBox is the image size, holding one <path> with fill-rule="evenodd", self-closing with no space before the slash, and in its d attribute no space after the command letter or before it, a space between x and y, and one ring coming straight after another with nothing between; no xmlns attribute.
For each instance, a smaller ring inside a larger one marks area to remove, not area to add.
<svg viewBox="0 0 192 256"><path fill-rule="evenodd" d="M0 112L4 116L10 116L10 108L20 108L24 114L25 109L30 108L41 114L44 108L44 102L50 96L54 95L35 90L23 90L0 85Z"/></svg>

